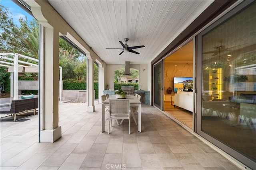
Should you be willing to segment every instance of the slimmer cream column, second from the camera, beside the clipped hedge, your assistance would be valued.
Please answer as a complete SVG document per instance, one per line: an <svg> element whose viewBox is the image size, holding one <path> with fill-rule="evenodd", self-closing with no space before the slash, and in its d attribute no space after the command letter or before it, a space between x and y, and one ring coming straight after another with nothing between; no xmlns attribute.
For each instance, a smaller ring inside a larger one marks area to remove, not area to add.
<svg viewBox="0 0 256 170"><path fill-rule="evenodd" d="M95 106L94 106L94 93L93 93L93 60L91 58L87 58L87 111L88 112L93 112L95 111Z"/></svg>

